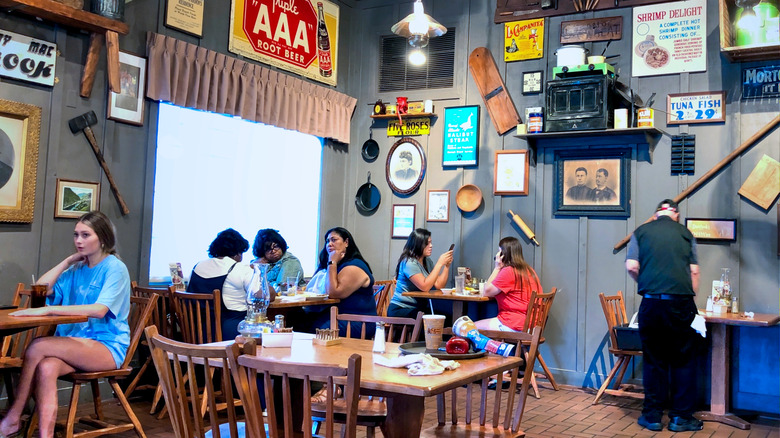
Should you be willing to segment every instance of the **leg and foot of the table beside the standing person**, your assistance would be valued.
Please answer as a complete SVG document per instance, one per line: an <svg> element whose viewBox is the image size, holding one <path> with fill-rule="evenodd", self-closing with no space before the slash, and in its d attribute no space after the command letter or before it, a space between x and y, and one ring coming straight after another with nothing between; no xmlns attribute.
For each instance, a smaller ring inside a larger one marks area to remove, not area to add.
<svg viewBox="0 0 780 438"><path fill-rule="evenodd" d="M731 331L726 324L712 324L712 365L710 377L710 410L697 413L703 421L717 421L743 430L750 429L750 423L728 412L729 384L731 382Z"/></svg>

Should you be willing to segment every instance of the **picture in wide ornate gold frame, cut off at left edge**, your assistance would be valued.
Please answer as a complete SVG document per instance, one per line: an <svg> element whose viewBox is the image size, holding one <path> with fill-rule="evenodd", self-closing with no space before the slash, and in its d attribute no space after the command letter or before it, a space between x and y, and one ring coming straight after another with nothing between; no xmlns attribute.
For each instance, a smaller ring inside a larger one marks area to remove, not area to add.
<svg viewBox="0 0 780 438"><path fill-rule="evenodd" d="M33 220L41 108L0 99L0 222Z"/></svg>

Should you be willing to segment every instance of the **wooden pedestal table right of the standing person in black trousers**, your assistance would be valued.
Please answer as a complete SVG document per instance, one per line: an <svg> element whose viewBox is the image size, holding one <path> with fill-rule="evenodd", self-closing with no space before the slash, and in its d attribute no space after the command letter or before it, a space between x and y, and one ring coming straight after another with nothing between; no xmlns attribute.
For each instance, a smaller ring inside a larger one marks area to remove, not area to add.
<svg viewBox="0 0 780 438"><path fill-rule="evenodd" d="M739 313L712 313L699 310L699 314L710 323L712 337L712 365L710 377L710 410L698 412L703 421L717 421L740 429L750 429L750 423L729 412L729 388L731 376L731 326L769 327L780 323L780 315L756 313L745 318Z"/></svg>

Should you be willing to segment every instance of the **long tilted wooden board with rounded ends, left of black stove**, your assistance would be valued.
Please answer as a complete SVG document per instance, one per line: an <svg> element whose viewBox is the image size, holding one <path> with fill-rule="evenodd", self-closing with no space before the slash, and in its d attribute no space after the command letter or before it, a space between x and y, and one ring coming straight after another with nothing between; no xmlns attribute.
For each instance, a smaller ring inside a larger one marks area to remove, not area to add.
<svg viewBox="0 0 780 438"><path fill-rule="evenodd" d="M520 123L512 98L498 73L496 61L487 47L477 47L469 55L469 71L485 101L496 131L502 135Z"/></svg>

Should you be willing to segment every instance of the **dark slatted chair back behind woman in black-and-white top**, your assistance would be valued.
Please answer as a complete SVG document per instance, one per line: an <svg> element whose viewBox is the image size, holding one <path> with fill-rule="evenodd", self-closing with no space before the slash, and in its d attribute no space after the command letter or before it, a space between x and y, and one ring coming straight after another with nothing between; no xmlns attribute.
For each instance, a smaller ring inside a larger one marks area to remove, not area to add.
<svg viewBox="0 0 780 438"><path fill-rule="evenodd" d="M207 344L222 341L222 301L219 289L211 293L175 291L173 304L184 342Z"/></svg>

